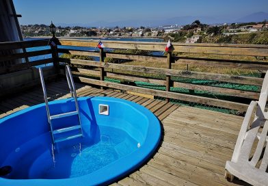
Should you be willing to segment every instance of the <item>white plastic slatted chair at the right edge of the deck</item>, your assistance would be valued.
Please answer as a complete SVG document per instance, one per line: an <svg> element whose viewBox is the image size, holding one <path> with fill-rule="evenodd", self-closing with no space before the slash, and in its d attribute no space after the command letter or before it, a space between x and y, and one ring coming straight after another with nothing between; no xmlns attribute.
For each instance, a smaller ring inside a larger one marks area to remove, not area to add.
<svg viewBox="0 0 268 186"><path fill-rule="evenodd" d="M268 73L263 80L259 100L252 101L247 108L232 160L226 161L225 177L230 178L230 181L233 181L236 176L252 185L268 185L268 114L265 111L267 96ZM258 139L258 144L256 150L253 151L252 147L256 139ZM252 151L254 155L250 157ZM259 161L258 168L256 165Z"/></svg>

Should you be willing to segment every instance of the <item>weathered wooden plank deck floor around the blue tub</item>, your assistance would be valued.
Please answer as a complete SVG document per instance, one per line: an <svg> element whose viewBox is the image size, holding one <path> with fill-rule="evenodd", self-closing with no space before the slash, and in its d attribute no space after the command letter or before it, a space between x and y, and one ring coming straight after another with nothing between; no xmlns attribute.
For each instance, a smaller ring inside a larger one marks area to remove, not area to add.
<svg viewBox="0 0 268 186"><path fill-rule="evenodd" d="M179 107L81 83L76 86L78 96L113 96L144 105L163 124L161 144L152 159L112 185L245 185L224 179L225 162L232 157L242 117ZM49 83L46 89L49 101L69 96L66 81ZM43 102L41 87L10 96L0 100L0 118Z"/></svg>

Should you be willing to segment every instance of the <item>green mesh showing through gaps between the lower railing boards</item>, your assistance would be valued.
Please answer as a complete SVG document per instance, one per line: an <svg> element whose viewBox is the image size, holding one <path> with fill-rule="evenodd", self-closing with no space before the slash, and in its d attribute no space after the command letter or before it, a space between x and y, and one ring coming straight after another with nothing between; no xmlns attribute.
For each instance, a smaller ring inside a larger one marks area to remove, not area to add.
<svg viewBox="0 0 268 186"><path fill-rule="evenodd" d="M111 79L107 77L105 78L105 81L109 81L113 83L126 83L126 81L120 81L119 79ZM202 80L202 79L189 79L189 78L183 78L183 77L172 77L172 81L181 82L181 83L191 83L194 85L208 85L208 86L214 86L214 87L219 87L219 88L230 88L230 89L235 89L235 90L260 92L260 86L256 86L256 85L243 85L243 84L238 84L238 83L227 83L227 82L221 82L221 81ZM165 91L165 85L157 85L157 84L147 83L147 82L142 82L142 81L135 81L134 83L137 87ZM208 92L204 90L189 90L187 88L171 87L170 92L176 92L176 93L181 93L181 94L191 94L191 95L202 96L202 97L207 97L207 98L217 98L221 100L235 101L239 103L250 103L250 99L229 96L229 95L221 94L221 93ZM164 97L155 96L155 98L162 100L162 101L165 100ZM179 104L179 105L187 105L190 107L197 107L201 109L219 111L219 112L226 113L226 114L243 115L241 111L237 111L234 109L226 109L223 107L217 107L213 105L204 105L201 103L181 101L181 100L176 100L176 99L170 99L170 102Z"/></svg>

